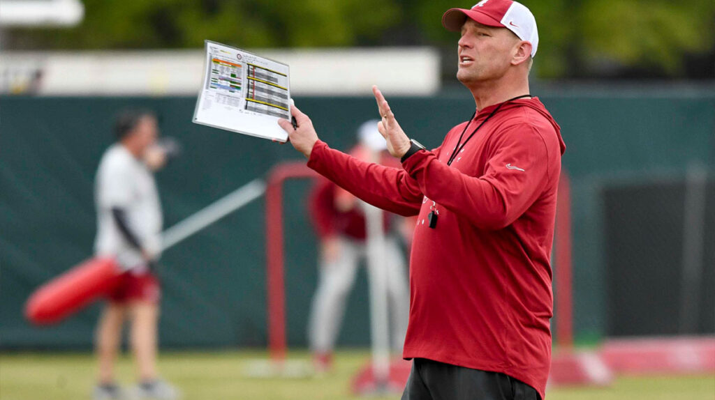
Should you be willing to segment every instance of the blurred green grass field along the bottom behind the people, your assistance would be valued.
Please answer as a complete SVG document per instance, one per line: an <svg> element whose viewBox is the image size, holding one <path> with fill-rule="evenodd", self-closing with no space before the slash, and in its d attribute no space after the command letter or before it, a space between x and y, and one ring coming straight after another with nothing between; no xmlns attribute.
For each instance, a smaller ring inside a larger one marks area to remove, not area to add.
<svg viewBox="0 0 715 400"><path fill-rule="evenodd" d="M164 353L162 375L184 391L186 400L223 399L358 399L350 379L368 359L366 350L346 350L335 357L335 371L320 378L256 379L245 376L251 359L265 352ZM291 358L307 360L305 352ZM122 384L133 383L132 360L117 365ZM0 354L1 400L91 399L94 359L91 354ZM399 395L372 399L399 399ZM621 377L608 388L553 388L548 400L714 400L715 376Z"/></svg>

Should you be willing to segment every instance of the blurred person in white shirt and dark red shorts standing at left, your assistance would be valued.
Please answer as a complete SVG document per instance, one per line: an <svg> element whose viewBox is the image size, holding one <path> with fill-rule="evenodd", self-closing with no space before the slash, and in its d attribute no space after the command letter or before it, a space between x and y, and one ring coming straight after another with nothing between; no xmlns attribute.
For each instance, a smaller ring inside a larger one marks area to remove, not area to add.
<svg viewBox="0 0 715 400"><path fill-rule="evenodd" d="M124 270L109 294L97 325L99 361L94 399L124 399L129 393L114 380L114 361L125 320L132 324L130 344L137 364L134 398L176 399L177 389L157 374L157 324L161 289L154 266L161 254L162 207L154 171L167 163L159 145L157 118L151 111L126 111L114 125L117 142L102 156L95 182L97 256L113 257Z"/></svg>

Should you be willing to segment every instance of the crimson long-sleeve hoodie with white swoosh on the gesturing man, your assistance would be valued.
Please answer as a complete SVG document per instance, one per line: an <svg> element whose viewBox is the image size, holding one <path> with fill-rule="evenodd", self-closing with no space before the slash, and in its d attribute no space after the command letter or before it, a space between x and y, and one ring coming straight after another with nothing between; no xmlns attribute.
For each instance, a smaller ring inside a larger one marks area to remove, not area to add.
<svg viewBox="0 0 715 400"><path fill-rule="evenodd" d="M497 371L545 398L553 315L549 255L566 146L538 98L498 105L452 128L403 169L351 158L318 141L308 166L359 198L418 215L410 256L403 357ZM428 227L430 209L439 212Z"/></svg>

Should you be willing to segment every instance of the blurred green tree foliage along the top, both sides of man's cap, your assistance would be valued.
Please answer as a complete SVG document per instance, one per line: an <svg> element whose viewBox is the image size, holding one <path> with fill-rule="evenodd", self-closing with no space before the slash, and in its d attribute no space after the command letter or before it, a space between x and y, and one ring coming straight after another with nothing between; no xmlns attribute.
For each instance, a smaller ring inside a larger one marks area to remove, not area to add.
<svg viewBox="0 0 715 400"><path fill-rule="evenodd" d="M475 1L475 0L472 0ZM713 52L712 0L523 0L536 16L542 77L616 67L677 76L689 53ZM453 0L84 0L72 29L16 31L19 46L62 49L244 48L428 44L456 48L440 24Z"/></svg>

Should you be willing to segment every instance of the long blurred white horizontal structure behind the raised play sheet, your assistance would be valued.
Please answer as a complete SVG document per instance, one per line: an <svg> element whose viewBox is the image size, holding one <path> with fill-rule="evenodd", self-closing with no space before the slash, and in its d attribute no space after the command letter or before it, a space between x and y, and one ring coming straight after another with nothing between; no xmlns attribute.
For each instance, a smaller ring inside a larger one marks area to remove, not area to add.
<svg viewBox="0 0 715 400"><path fill-rule="evenodd" d="M440 89L440 55L429 47L267 49L290 66L295 96L425 96ZM0 93L39 96L192 96L204 73L202 50L4 52Z"/></svg>

